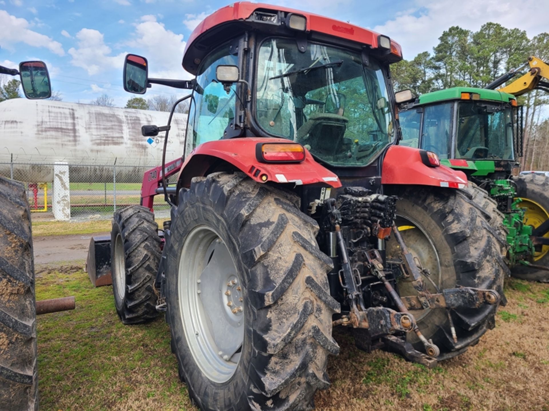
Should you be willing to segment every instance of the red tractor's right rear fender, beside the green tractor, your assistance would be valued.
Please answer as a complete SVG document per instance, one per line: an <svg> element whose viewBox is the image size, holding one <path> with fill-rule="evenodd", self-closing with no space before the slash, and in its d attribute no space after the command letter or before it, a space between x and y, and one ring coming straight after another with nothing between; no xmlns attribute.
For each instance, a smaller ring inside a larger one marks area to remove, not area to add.
<svg viewBox="0 0 549 411"><path fill-rule="evenodd" d="M467 186L465 173L445 165L428 167L423 164L420 150L391 146L383 159L382 184L407 184L462 189Z"/></svg>

